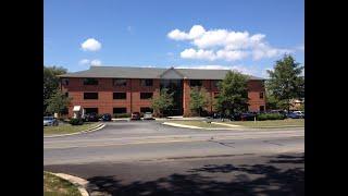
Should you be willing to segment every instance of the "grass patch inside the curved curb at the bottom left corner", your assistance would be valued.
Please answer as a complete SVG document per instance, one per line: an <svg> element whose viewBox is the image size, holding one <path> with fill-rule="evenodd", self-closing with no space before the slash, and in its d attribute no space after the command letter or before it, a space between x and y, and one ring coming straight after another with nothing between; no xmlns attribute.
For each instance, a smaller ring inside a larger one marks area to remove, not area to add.
<svg viewBox="0 0 348 196"><path fill-rule="evenodd" d="M78 188L69 181L44 172L45 196L80 196Z"/></svg>

